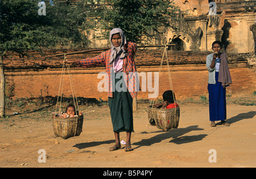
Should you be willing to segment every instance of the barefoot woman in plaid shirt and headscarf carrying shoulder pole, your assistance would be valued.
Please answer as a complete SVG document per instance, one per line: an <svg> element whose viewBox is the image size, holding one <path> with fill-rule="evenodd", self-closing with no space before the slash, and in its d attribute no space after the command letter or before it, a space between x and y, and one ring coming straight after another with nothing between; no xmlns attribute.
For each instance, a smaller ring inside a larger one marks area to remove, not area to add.
<svg viewBox="0 0 256 179"><path fill-rule="evenodd" d="M112 48L99 56L66 63L76 63L84 68L102 64L106 66L109 108L115 135L115 144L109 151L121 148L119 133L122 131L126 132L127 137L125 151L131 151L131 132L134 131L133 99L137 96L137 90L134 90L134 78L129 78L129 74L136 71L134 54L137 51L137 44L126 43L126 37L120 28L110 31L109 40Z"/></svg>

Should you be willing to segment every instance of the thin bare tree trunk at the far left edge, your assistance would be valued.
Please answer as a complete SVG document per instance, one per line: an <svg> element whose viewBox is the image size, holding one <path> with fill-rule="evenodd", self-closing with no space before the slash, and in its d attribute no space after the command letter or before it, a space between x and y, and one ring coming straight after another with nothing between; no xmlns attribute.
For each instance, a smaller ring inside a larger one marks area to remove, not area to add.
<svg viewBox="0 0 256 179"><path fill-rule="evenodd" d="M0 117L5 117L5 74L3 73L3 56L0 56Z"/></svg>

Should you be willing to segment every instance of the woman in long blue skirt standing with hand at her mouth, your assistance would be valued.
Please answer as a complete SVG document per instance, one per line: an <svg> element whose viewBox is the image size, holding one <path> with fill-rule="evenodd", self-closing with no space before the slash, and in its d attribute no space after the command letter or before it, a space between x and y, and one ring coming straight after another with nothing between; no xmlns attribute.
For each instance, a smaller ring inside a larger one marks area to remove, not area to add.
<svg viewBox="0 0 256 179"><path fill-rule="evenodd" d="M221 121L221 125L229 126L226 120L226 87L232 83L229 73L226 53L220 53L221 42L214 41L212 50L214 53L207 56L206 66L209 71L209 115L210 126L216 126L215 121Z"/></svg>

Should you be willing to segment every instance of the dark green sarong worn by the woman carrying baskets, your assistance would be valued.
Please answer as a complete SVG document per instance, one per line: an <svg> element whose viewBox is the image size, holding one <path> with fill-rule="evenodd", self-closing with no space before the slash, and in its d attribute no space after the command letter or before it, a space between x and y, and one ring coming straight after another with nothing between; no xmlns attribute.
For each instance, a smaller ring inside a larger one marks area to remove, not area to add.
<svg viewBox="0 0 256 179"><path fill-rule="evenodd" d="M133 98L131 97L125 82L123 75L120 78L113 80L113 97L109 97L109 108L112 119L114 132L134 132L133 130ZM115 74L115 76L117 76ZM122 89L122 90L121 90Z"/></svg>

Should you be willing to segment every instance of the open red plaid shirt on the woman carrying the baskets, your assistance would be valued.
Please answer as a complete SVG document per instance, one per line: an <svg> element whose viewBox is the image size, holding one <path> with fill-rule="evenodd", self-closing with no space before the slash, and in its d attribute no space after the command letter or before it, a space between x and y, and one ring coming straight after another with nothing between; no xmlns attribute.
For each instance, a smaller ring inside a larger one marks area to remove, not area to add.
<svg viewBox="0 0 256 179"><path fill-rule="evenodd" d="M134 54L137 51L137 44L133 42L128 42L127 43L127 56L123 59L123 73L124 74L124 79L125 83L128 84L127 87L129 89L131 97L135 98L137 96L137 90L138 88L135 88L136 85L136 77L132 76L133 78L130 78L131 72L136 71L135 67L135 62L134 62ZM113 73L113 64L110 63L110 54L111 54L111 49L102 52L99 56L92 57L92 58L85 58L81 60L77 60L77 65L79 67L92 67L92 66L97 66L97 65L105 65L106 66L106 74L108 74L107 78L107 83L108 83L108 96L113 97L113 87L112 87L112 81L111 81L111 73Z"/></svg>

